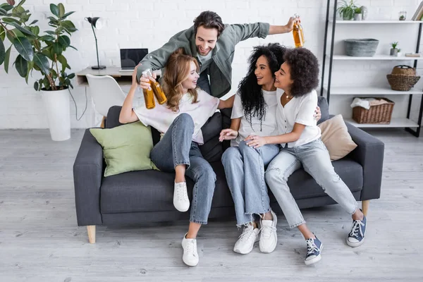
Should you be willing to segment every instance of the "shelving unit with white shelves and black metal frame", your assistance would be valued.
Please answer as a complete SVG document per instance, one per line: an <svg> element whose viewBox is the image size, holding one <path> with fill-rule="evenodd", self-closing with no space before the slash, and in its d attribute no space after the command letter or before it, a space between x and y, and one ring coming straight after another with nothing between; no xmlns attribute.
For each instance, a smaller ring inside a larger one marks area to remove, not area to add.
<svg viewBox="0 0 423 282"><path fill-rule="evenodd" d="M331 3L334 2L334 6L331 7ZM336 20L336 6L337 6L338 0L327 0L327 9L326 9L326 30L325 30L325 42L324 42L324 61L323 61L323 68L322 68L322 76L321 76L321 95L325 95L326 99L328 99L328 102L330 103L330 98L333 97L339 97L336 99L336 104L338 109L338 106L341 106L343 111L348 111L348 106L344 103L350 103L353 102L353 97L385 97L388 99L402 99L402 105L405 106L403 99L407 99L408 97L408 109L407 114L405 116L402 116L403 109L401 111L398 111L396 116L391 118L391 123L389 124L362 124L357 123L353 121L352 118L345 118L345 121L348 121L355 125L358 128L405 128L408 132L412 133L412 135L415 135L416 137L420 134L420 127L422 125L422 114L423 114L423 97L422 101L420 103L419 108L419 118L418 122L410 120L410 109L412 106L412 96L413 95L422 95L423 89L419 89L417 87L412 88L410 91L395 91L391 90L391 87L389 85L373 85L373 86L361 86L360 81L355 81L357 85L360 85L359 87L335 87L332 84L332 68L333 68L333 61L338 61L339 63L342 63L342 61L414 61L414 67L417 67L417 61L422 61L423 56L419 57L413 57L413 56L389 56L387 54L375 54L374 56L346 56L345 54L333 54L334 51L334 43L336 42L336 26L342 25L343 29L348 29L348 26L355 26L355 30L357 32L357 28L363 29L367 28L366 25L369 25L369 28L376 28L380 25L383 26L390 26L393 30L396 25L401 25L404 30L407 30L408 25L415 26L417 25L419 27L419 32L417 34L417 47L416 47L416 53L419 53L419 44L422 34L422 26L423 21L422 20ZM329 13L331 12L331 9L333 8L333 13L331 16L329 16ZM331 36L328 38L328 27L329 23L331 25ZM398 30L397 30L398 31ZM382 33L383 34L383 33ZM412 32L410 32L410 36L412 35ZM393 35L392 37L394 37ZM386 32L384 37L386 37ZM350 38L366 38L366 37L350 37ZM377 35L374 35L374 38L378 38ZM394 41L394 39L392 39ZM328 51L328 48L329 51ZM338 51L336 53L341 53ZM397 63L398 64L398 63ZM326 65L329 65L329 75L326 75L325 73L325 67ZM393 65L395 66L395 65ZM325 81L325 75L328 77ZM354 78L355 79L355 78ZM374 84L374 83L372 83ZM404 97L405 96L405 97ZM349 97L351 97L351 100L349 101ZM402 98L401 98L402 97ZM395 111L394 106L394 111ZM352 109L351 109L352 113ZM398 117L400 116L400 117Z"/></svg>

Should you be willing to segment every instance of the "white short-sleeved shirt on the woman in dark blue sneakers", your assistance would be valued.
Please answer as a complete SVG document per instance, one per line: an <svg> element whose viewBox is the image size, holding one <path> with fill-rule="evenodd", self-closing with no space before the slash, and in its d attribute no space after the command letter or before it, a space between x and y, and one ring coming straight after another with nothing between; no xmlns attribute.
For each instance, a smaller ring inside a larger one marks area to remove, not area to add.
<svg viewBox="0 0 423 282"><path fill-rule="evenodd" d="M283 90L278 89L276 92L278 99L276 119L279 134L286 134L293 131L295 123L305 125L300 139L295 142L289 142L288 147L305 145L319 138L321 131L314 118L314 111L316 111L317 107L317 92L312 90L312 92L303 96L293 97L284 107L281 104L281 97L284 94ZM285 143L281 145L284 147Z"/></svg>

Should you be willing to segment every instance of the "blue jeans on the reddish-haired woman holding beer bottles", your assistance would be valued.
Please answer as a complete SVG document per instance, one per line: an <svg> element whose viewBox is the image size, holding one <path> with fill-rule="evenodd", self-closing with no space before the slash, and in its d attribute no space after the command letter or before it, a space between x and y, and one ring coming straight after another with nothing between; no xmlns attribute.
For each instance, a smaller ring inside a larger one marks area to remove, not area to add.
<svg viewBox="0 0 423 282"><path fill-rule="evenodd" d="M194 121L189 114L180 114L163 138L154 146L150 158L161 171L174 172L180 164L187 166L185 175L195 185L192 190L190 221L207 224L216 182L212 166L200 152L200 147L192 141Z"/></svg>

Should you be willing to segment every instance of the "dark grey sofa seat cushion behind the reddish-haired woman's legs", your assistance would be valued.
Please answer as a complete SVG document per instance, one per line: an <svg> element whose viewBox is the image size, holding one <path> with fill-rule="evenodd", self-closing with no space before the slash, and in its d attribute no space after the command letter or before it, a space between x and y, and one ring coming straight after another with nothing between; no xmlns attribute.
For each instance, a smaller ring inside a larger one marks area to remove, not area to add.
<svg viewBox="0 0 423 282"><path fill-rule="evenodd" d="M223 166L212 163L216 173L216 188L212 207L231 207L231 192L226 185ZM101 190L101 211L106 214L123 212L174 211L174 173L159 171L132 171L103 178ZM187 178L188 196L192 200L194 183Z"/></svg>

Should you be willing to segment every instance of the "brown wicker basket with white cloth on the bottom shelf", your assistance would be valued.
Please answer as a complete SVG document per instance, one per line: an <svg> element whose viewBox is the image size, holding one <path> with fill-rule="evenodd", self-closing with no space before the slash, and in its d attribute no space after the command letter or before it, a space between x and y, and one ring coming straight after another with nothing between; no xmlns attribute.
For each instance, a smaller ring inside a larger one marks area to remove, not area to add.
<svg viewBox="0 0 423 282"><path fill-rule="evenodd" d="M363 98L364 99L364 98ZM355 106L353 108L353 120L357 123L391 123L391 116L393 111L393 105L395 104L390 99L386 98L374 98L384 99L387 104L381 104L377 106L370 106L370 109L364 109L362 106Z"/></svg>

